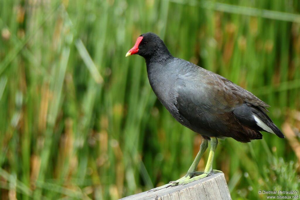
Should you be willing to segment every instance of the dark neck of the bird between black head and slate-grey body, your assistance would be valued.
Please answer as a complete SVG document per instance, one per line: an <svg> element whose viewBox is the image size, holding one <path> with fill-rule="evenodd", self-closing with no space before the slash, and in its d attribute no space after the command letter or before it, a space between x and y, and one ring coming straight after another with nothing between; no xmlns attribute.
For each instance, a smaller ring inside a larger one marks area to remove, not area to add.
<svg viewBox="0 0 300 200"><path fill-rule="evenodd" d="M152 63L160 63L163 64L167 62L170 58L173 58L169 50L166 46L164 48L158 49L150 56L144 56L146 60L147 67L151 65Z"/></svg>

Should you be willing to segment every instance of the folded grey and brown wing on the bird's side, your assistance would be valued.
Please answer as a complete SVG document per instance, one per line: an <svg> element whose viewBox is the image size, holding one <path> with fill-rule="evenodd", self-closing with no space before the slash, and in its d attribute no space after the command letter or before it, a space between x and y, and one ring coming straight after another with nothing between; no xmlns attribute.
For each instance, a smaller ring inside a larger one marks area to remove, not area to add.
<svg viewBox="0 0 300 200"><path fill-rule="evenodd" d="M203 74L203 71L201 72ZM205 79L195 78L190 85L177 88L176 107L186 118L193 130L199 126L205 136L232 137L240 142L261 139L262 134L253 127L241 123L235 116L234 109L248 103L265 109L266 103L259 100L249 91L235 85L215 73L205 70ZM181 80L182 82L182 80ZM253 117L252 117L253 118Z"/></svg>

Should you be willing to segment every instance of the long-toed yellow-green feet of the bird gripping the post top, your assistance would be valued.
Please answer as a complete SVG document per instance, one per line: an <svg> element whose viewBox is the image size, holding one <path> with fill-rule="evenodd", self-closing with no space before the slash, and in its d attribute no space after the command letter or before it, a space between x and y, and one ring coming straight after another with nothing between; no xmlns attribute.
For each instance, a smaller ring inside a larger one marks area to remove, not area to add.
<svg viewBox="0 0 300 200"><path fill-rule="evenodd" d="M167 187L174 187L174 186L177 186L177 185L185 185L185 184L191 183L193 181L197 181L197 180L200 180L202 178L205 178L205 177L209 176L211 173L223 173L223 172L220 171L220 170L211 170L211 172L187 173L184 177L179 178L176 181L170 181L168 184L165 184L161 187L153 188L152 190L149 190L149 192L152 192L152 191L155 192L155 191L167 188Z"/></svg>

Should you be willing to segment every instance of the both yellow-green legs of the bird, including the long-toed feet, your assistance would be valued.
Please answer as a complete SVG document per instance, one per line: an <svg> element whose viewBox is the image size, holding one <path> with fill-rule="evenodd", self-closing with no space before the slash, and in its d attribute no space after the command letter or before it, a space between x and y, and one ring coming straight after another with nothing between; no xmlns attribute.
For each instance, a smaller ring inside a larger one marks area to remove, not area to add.
<svg viewBox="0 0 300 200"><path fill-rule="evenodd" d="M151 191L157 191L157 190L161 190L163 188L173 187L173 186L181 185L181 184L183 184L183 185L188 184L190 182L199 180L201 178L205 178L210 173L219 173L219 172L221 172L219 170L212 170L212 162L214 160L214 152L216 151L217 144L218 144L217 138L216 137L211 137L211 149L210 149L210 152L209 152L209 156L208 156L208 160L207 160L204 172L196 172L196 168L198 166L198 163L199 163L201 157L203 156L205 150L208 147L206 139L202 139L202 143L200 145L200 150L199 150L193 164L190 166L190 169L187 171L187 174L184 177L178 179L177 181L170 181L169 184L163 185L161 187L154 188Z"/></svg>

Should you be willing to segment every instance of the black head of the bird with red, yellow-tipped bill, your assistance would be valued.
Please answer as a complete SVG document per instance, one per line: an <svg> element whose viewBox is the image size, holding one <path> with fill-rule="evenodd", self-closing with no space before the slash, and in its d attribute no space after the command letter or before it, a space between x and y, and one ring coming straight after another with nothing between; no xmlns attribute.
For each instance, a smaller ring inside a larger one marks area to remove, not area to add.
<svg viewBox="0 0 300 200"><path fill-rule="evenodd" d="M171 55L164 41L151 32L140 35L134 47L127 52L126 57L133 54L143 56L145 59Z"/></svg>

